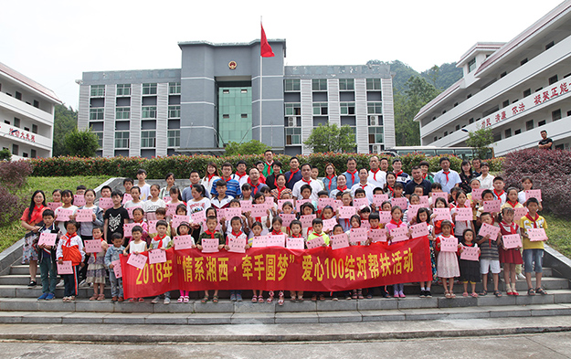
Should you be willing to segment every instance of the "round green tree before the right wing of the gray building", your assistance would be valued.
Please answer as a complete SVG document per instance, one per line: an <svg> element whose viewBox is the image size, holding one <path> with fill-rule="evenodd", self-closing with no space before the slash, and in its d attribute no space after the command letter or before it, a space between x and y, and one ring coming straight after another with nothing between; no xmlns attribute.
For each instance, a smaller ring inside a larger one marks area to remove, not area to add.
<svg viewBox="0 0 571 359"><path fill-rule="evenodd" d="M303 143L310 147L314 153L324 152L351 152L357 146L354 143L354 133L351 127L336 124L320 124Z"/></svg>

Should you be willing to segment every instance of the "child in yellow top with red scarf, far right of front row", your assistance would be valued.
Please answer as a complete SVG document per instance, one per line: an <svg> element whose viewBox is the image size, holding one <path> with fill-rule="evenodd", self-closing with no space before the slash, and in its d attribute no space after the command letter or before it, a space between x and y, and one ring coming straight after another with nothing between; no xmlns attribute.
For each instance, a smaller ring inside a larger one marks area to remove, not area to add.
<svg viewBox="0 0 571 359"><path fill-rule="evenodd" d="M547 228L547 222L543 216L537 214L539 209L539 201L537 198L530 198L525 202L528 213L520 219L520 230L523 237L523 269L525 270L525 280L527 281L527 294L541 295L547 292L541 288L542 267L544 264L544 241L529 240L527 229L531 228ZM532 266L535 272L535 290L532 285Z"/></svg>

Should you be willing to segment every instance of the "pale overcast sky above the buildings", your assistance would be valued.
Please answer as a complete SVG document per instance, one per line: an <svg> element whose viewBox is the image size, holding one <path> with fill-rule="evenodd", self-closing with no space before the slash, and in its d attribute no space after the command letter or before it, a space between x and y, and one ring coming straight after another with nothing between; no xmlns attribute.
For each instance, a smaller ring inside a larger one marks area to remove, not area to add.
<svg viewBox="0 0 571 359"><path fill-rule="evenodd" d="M180 41L286 39L286 65L400 60L417 71L509 41L561 0L11 1L0 62L77 109L83 71L180 68Z"/></svg>

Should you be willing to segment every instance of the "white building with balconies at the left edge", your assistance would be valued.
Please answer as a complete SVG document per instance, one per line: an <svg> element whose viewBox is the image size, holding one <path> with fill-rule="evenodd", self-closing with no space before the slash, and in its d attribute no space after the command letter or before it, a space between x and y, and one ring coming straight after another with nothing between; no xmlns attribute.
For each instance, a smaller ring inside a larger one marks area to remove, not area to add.
<svg viewBox="0 0 571 359"><path fill-rule="evenodd" d="M0 147L12 159L50 157L58 96L0 63Z"/></svg>

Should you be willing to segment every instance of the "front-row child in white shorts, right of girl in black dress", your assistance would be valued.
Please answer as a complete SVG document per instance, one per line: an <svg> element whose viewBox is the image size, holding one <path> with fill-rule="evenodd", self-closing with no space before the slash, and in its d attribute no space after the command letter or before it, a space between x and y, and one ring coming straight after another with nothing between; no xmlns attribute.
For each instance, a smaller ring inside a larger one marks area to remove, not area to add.
<svg viewBox="0 0 571 359"><path fill-rule="evenodd" d="M492 192L492 191L490 191ZM481 223L493 226L492 214L489 212L482 212L480 215ZM492 270L493 279L493 295L497 298L502 297L502 292L498 290L498 282L500 277L500 255L498 253L498 242L497 238L490 238L490 235L486 237L477 236L476 242L480 246L481 256L480 256L480 272L481 272L481 283L483 284L483 290L481 290L480 295L484 296L488 294L488 271Z"/></svg>

